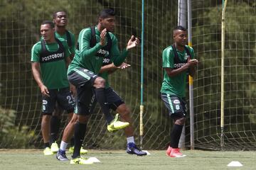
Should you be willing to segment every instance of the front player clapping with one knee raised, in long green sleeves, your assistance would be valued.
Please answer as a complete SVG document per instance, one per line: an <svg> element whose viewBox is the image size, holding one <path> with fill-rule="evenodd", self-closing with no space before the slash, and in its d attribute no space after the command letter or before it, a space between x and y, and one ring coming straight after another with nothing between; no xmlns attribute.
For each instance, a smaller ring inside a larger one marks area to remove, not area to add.
<svg viewBox="0 0 256 170"><path fill-rule="evenodd" d="M117 38L111 33L114 30L114 11L104 9L98 18L98 24L93 29L96 35L96 45L91 46L92 31L90 28L81 30L78 37L78 50L68 67L68 80L74 84L77 93L76 113L78 121L75 123L75 149L70 164L87 164L87 160L80 157L80 147L85 137L87 121L92 107L93 98L100 103L107 123L112 121L110 105L107 101L105 79L97 76L102 67L104 57L109 57L115 66L121 65L128 55L128 50L139 44L134 35L127 42L127 47L120 54ZM128 113L128 112L126 112ZM135 146L134 146L135 147Z"/></svg>

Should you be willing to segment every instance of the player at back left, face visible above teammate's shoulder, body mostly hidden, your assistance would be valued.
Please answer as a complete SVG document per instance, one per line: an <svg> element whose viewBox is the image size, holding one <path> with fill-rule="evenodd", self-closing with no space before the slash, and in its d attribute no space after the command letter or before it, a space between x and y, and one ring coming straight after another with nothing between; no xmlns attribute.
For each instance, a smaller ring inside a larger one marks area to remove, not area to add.
<svg viewBox="0 0 256 170"><path fill-rule="evenodd" d="M55 23L55 38L63 38L67 40L69 50L71 52L70 59L73 60L75 55L75 35L70 32L70 30L66 29L68 25L68 15L65 11L56 11L53 13L53 23ZM75 95L75 89L73 89L73 96ZM63 113L63 109L58 106L56 103L55 111L53 112L53 116L50 119L50 137L52 145L50 145L50 150L52 152L58 152L58 144L56 142L58 137L58 132L60 129L60 120ZM71 120L73 114L68 114L68 121ZM70 148L69 152L73 153L74 149L74 137L70 139ZM88 151L81 147L80 153L85 154Z"/></svg>

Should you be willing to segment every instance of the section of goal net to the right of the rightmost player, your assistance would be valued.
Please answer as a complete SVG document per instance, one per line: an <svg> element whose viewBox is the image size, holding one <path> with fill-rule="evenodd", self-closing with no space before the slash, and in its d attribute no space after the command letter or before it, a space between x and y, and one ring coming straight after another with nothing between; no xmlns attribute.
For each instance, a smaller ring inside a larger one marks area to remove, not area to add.
<svg viewBox="0 0 256 170"><path fill-rule="evenodd" d="M216 1L191 4L193 48L200 61L194 82L196 147L220 149L222 4ZM255 1L228 1L225 12L223 149L256 146L255 9Z"/></svg>

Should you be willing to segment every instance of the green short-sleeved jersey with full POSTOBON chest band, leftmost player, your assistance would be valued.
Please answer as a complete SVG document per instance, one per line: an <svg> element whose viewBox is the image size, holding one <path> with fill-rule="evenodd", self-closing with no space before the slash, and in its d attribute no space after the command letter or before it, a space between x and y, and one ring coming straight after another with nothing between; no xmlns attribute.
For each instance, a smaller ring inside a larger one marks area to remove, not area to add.
<svg viewBox="0 0 256 170"><path fill-rule="evenodd" d="M43 48L46 50L43 50ZM66 40L56 38L56 42L43 40L33 45L31 62L40 62L41 79L48 89L61 89L69 86L65 58L70 56Z"/></svg>

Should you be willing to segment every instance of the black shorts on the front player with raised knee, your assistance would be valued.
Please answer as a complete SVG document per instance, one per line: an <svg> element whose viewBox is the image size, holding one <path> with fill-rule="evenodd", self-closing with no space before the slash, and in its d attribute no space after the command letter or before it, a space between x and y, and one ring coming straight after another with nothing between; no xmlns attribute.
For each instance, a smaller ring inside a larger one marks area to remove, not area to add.
<svg viewBox="0 0 256 170"><path fill-rule="evenodd" d="M77 91L75 113L90 115L95 107L94 81L98 76L90 70L79 68L68 74L68 81Z"/></svg>

